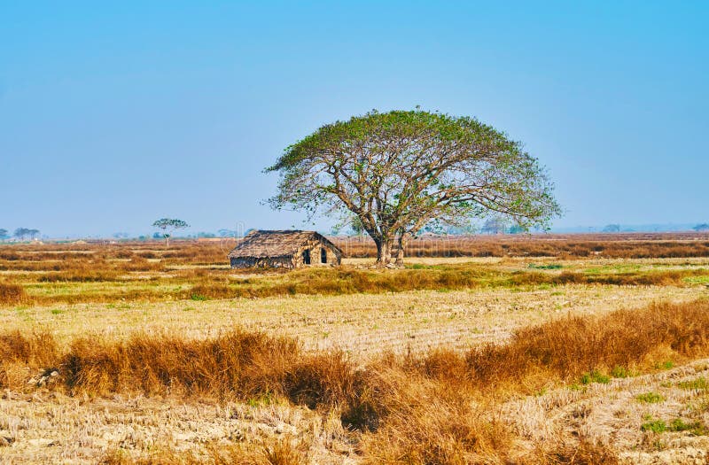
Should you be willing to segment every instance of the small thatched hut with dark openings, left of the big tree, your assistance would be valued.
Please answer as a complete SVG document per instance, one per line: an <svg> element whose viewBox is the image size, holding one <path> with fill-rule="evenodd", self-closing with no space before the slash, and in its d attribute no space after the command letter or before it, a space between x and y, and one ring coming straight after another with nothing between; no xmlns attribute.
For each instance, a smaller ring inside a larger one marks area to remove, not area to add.
<svg viewBox="0 0 709 465"><path fill-rule="evenodd" d="M342 251L315 231L252 231L228 255L232 268L339 265Z"/></svg>

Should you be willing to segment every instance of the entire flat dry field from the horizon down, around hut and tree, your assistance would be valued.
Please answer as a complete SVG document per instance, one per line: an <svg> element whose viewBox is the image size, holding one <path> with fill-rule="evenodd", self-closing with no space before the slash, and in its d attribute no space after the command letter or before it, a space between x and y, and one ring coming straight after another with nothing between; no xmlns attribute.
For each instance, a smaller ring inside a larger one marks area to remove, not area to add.
<svg viewBox="0 0 709 465"><path fill-rule="evenodd" d="M709 236L0 246L0 462L709 463Z"/></svg>

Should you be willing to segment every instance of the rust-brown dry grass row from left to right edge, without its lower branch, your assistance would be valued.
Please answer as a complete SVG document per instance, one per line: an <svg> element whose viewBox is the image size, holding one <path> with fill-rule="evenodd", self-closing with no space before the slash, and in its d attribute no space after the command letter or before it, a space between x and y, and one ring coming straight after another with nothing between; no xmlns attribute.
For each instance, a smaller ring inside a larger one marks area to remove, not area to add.
<svg viewBox="0 0 709 465"><path fill-rule="evenodd" d="M302 353L289 337L234 330L206 340L138 334L126 341L75 340L58 355L45 333L17 331L0 337L0 360L31 366L57 364L72 391L184 392L247 399L273 393L307 405L339 406L356 426L378 423L401 386L396 376L423 376L449 391L526 389L529 379L565 381L594 370L651 366L674 353L709 353L709 302L652 304L601 316L567 316L518 329L506 344L480 345L468 353L435 350L423 355L385 354L358 369L345 353ZM540 376L543 375L543 376Z"/></svg>

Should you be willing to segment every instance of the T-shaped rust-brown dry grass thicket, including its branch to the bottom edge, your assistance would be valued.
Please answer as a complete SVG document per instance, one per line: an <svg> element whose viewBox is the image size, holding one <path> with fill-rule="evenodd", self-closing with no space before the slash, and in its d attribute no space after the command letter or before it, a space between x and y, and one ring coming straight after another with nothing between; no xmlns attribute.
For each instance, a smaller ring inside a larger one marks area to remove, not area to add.
<svg viewBox="0 0 709 465"><path fill-rule="evenodd" d="M612 463L617 455L609 448L583 442L581 455L559 443L522 459L514 431L490 412L501 399L588 373L602 380L619 367L646 371L668 357L706 356L707 335L709 303L697 301L567 317L519 329L507 343L468 353L386 353L364 368L344 353L302 353L293 340L243 331L207 340L83 338L53 357L57 345L51 337L12 333L2 339L0 363L5 371L22 363L56 368L59 381L52 389L74 396L277 396L323 413L334 410L343 426L360 431L365 463ZM174 462L169 455L160 460Z"/></svg>

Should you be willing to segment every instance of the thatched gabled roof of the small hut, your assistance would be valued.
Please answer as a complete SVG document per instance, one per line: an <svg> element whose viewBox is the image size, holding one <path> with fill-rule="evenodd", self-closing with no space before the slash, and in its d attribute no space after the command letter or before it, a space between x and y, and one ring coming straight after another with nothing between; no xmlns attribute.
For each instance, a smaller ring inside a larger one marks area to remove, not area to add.
<svg viewBox="0 0 709 465"><path fill-rule="evenodd" d="M316 231L252 231L230 252L229 258L238 257L290 257L309 240L320 240L339 253L342 251Z"/></svg>

